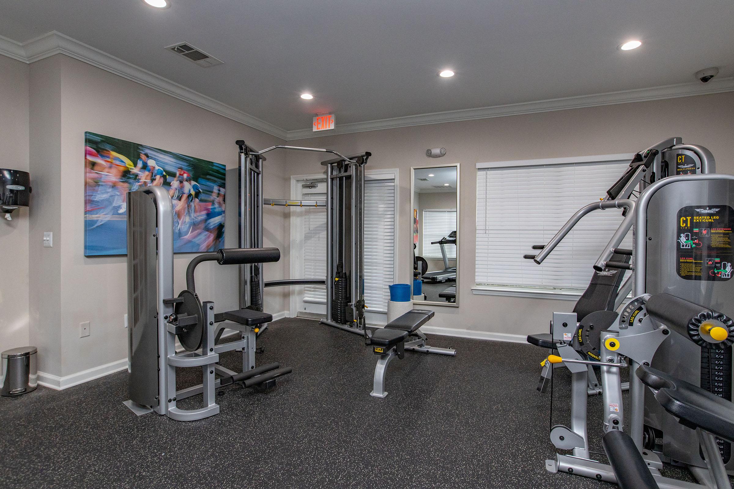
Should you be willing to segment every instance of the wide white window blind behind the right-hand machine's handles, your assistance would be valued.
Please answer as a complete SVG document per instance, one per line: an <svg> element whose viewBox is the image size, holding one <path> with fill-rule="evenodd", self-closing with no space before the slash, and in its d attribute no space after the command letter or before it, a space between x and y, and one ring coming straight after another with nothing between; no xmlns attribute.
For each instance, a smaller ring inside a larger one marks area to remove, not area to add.
<svg viewBox="0 0 734 489"><path fill-rule="evenodd" d="M629 160L524 163L478 165L476 285L583 290L622 221L621 210L597 210L582 218L542 265L524 260L523 254L537 254L532 245L548 243L573 213L606 196ZM632 247L631 235L622 247Z"/></svg>

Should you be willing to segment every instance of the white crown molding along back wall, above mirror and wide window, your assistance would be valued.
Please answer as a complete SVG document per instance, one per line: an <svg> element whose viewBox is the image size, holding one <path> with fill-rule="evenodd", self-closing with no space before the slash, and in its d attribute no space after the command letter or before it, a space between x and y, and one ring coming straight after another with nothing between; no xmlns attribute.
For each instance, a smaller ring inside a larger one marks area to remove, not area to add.
<svg viewBox="0 0 734 489"><path fill-rule="evenodd" d="M337 125L335 129L314 133L311 128L288 130L286 141L294 139L319 138L335 134L361 133L368 130L405 128L413 125L441 124L443 122L459 122L462 120L490 119L537 112L561 111L567 109L583 109L584 107L609 106L617 103L646 102L665 98L692 97L713 93L734 92L734 77L720 78L702 84L694 81L686 84L666 85L643 89L623 90L578 97L552 98L536 102L512 103L504 106L482 107L479 109L462 109L457 111L432 112L392 119L352 122Z"/></svg>

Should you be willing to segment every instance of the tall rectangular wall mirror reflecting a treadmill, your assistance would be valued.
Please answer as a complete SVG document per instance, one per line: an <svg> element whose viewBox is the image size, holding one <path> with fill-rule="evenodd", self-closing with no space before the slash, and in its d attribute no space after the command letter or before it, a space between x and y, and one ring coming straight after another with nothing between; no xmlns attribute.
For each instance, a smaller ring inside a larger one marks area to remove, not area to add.
<svg viewBox="0 0 734 489"><path fill-rule="evenodd" d="M459 166L413 167L413 278L432 305L458 306ZM414 287L415 289L415 287Z"/></svg>

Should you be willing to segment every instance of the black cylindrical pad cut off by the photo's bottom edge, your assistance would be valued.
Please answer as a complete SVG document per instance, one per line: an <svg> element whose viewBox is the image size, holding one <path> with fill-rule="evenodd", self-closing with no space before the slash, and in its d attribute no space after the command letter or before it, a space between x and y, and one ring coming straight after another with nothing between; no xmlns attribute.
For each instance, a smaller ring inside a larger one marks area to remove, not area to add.
<svg viewBox="0 0 734 489"><path fill-rule="evenodd" d="M658 489L658 483L630 435L610 430L602 438L602 444L619 488Z"/></svg>

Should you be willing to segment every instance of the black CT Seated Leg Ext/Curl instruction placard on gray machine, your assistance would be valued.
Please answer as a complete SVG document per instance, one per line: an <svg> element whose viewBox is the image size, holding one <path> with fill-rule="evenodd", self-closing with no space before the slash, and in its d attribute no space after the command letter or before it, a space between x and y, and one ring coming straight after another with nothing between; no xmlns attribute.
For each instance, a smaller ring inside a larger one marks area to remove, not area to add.
<svg viewBox="0 0 734 489"><path fill-rule="evenodd" d="M681 279L727 281L732 276L734 209L688 205L677 214L677 272Z"/></svg>

